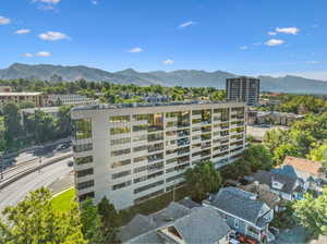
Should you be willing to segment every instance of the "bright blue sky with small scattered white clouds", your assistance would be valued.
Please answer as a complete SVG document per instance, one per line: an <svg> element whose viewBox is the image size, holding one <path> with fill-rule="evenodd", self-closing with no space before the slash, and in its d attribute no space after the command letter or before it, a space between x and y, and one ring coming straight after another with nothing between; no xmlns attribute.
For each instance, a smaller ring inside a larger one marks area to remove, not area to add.
<svg viewBox="0 0 327 244"><path fill-rule="evenodd" d="M0 69L222 70L327 81L326 0L2 0Z"/></svg>

